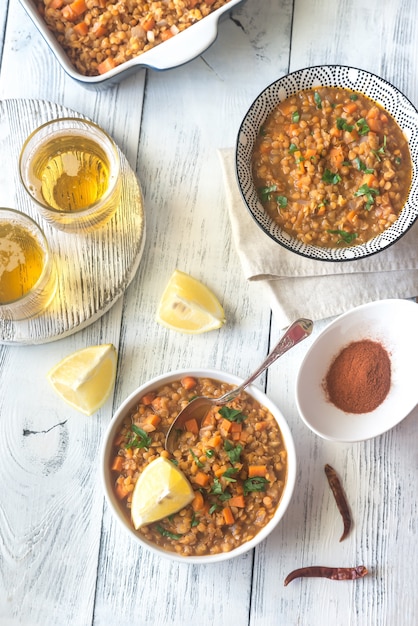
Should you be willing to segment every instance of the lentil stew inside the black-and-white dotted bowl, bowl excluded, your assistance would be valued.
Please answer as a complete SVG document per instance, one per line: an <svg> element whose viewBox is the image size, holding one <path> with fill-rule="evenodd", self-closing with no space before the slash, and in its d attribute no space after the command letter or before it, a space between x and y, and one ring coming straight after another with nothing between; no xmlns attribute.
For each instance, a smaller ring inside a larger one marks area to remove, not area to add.
<svg viewBox="0 0 418 626"><path fill-rule="evenodd" d="M261 203L285 232L337 247L365 243L396 221L412 161L402 130L378 103L317 87L269 114L252 170Z"/></svg>

